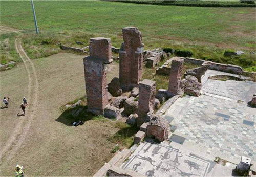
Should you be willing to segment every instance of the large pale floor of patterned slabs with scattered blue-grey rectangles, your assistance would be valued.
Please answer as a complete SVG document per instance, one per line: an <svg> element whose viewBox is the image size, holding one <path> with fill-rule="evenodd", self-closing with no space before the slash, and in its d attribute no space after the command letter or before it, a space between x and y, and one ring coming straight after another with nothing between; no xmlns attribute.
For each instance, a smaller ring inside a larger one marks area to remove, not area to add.
<svg viewBox="0 0 256 177"><path fill-rule="evenodd" d="M247 156L253 160L256 158L255 110L246 104L207 95L186 96L167 110L165 118L176 127L171 141L198 145L213 156L228 159Z"/></svg>

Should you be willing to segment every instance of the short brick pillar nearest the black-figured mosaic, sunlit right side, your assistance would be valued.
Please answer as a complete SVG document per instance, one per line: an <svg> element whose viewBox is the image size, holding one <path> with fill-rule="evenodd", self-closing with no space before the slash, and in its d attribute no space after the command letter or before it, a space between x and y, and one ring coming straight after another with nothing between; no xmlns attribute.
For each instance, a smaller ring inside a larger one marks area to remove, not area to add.
<svg viewBox="0 0 256 177"><path fill-rule="evenodd" d="M139 84L139 108L137 126L140 127L146 120L146 114L148 112L154 113L156 96L156 82L148 79L144 79Z"/></svg>

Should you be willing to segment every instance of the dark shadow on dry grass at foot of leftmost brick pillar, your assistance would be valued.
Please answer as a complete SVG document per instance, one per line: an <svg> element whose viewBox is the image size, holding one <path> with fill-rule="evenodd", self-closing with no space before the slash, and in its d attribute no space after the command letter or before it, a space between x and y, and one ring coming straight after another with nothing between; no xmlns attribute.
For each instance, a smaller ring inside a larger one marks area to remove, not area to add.
<svg viewBox="0 0 256 177"><path fill-rule="evenodd" d="M95 118L95 115L87 112L87 106L79 105L74 108L63 110L62 114L55 120L67 126L73 126L73 122L79 120L86 122L93 118Z"/></svg>

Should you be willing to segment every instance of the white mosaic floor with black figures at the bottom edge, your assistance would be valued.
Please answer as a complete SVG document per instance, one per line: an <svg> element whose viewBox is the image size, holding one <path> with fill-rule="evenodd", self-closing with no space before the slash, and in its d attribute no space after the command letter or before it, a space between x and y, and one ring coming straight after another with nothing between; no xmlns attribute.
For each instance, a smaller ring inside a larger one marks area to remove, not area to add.
<svg viewBox="0 0 256 177"><path fill-rule="evenodd" d="M214 163L193 154L186 155L177 148L145 142L122 168L146 176L206 176L213 166Z"/></svg>

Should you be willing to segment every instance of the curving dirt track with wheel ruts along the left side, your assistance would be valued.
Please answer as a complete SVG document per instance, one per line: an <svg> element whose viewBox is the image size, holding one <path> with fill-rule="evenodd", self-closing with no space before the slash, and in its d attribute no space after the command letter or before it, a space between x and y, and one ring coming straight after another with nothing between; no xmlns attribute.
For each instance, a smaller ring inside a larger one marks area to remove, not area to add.
<svg viewBox="0 0 256 177"><path fill-rule="evenodd" d="M7 160L11 159L17 150L22 147L23 142L26 139L28 131L30 129L31 121L36 116L37 109L37 100L38 100L38 80L36 75L36 70L34 64L27 56L26 52L22 48L21 37L22 33L19 30L15 30L12 28L0 26L0 29L8 32L15 32L18 34L18 37L15 39L15 48L17 53L25 65L27 76L28 76L28 95L27 99L29 100L29 105L27 107L27 115L24 119L22 119L15 127L11 137L8 139L5 146L0 151L0 161L6 157Z"/></svg>

